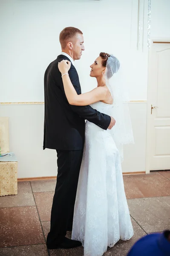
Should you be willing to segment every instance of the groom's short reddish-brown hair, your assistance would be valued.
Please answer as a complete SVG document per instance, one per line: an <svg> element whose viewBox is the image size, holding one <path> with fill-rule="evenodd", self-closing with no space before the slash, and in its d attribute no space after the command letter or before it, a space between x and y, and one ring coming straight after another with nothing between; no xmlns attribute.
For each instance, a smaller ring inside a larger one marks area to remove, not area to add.
<svg viewBox="0 0 170 256"><path fill-rule="evenodd" d="M60 33L60 44L61 48L65 49L66 48L66 41L68 39L72 39L75 37L76 34L82 34L80 29L74 28L74 27L66 27L63 29Z"/></svg>

